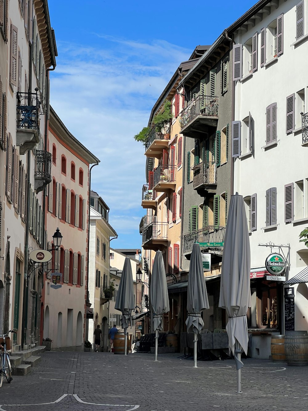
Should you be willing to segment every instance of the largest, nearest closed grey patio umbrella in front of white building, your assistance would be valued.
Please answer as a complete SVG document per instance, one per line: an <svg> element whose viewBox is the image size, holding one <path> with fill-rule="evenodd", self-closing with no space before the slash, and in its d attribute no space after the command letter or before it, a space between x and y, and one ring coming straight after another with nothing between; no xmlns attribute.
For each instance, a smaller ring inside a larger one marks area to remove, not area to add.
<svg viewBox="0 0 308 411"><path fill-rule="evenodd" d="M237 393L241 393L241 350L247 354L247 310L251 307L250 245L242 196L231 196L223 247L219 307L225 308L229 351L237 367Z"/></svg>

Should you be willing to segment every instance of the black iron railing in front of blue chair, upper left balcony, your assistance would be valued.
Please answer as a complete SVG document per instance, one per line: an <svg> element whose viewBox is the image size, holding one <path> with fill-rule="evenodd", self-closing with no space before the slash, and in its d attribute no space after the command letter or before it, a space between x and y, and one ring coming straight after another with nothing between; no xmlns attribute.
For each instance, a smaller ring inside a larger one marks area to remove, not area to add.
<svg viewBox="0 0 308 411"><path fill-rule="evenodd" d="M44 114L37 93L17 92L17 129L39 130L39 115Z"/></svg>

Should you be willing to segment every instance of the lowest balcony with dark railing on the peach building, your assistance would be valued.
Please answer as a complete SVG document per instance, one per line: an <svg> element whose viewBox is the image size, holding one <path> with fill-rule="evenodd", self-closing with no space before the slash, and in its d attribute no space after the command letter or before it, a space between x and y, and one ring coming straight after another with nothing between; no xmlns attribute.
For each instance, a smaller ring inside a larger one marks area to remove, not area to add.
<svg viewBox="0 0 308 411"><path fill-rule="evenodd" d="M142 246L145 250L158 251L168 245L168 223L150 222L143 227Z"/></svg>

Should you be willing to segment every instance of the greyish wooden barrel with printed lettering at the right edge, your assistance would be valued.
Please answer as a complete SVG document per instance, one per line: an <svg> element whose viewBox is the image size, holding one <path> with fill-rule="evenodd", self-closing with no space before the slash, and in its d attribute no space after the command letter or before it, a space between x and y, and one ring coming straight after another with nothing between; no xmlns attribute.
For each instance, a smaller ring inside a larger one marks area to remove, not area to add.
<svg viewBox="0 0 308 411"><path fill-rule="evenodd" d="M287 365L292 367L308 365L307 331L292 331L285 334L285 357Z"/></svg>

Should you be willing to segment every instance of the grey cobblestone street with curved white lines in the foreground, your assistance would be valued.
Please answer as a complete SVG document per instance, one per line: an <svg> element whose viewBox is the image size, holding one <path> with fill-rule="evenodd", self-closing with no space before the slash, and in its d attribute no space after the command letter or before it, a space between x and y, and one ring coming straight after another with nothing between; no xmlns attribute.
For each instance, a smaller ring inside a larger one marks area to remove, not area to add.
<svg viewBox="0 0 308 411"><path fill-rule="evenodd" d="M308 367L244 360L236 394L233 360L180 360L165 354L44 352L28 376L0 388L0 410L304 410ZM3 405L5 404L5 405Z"/></svg>

